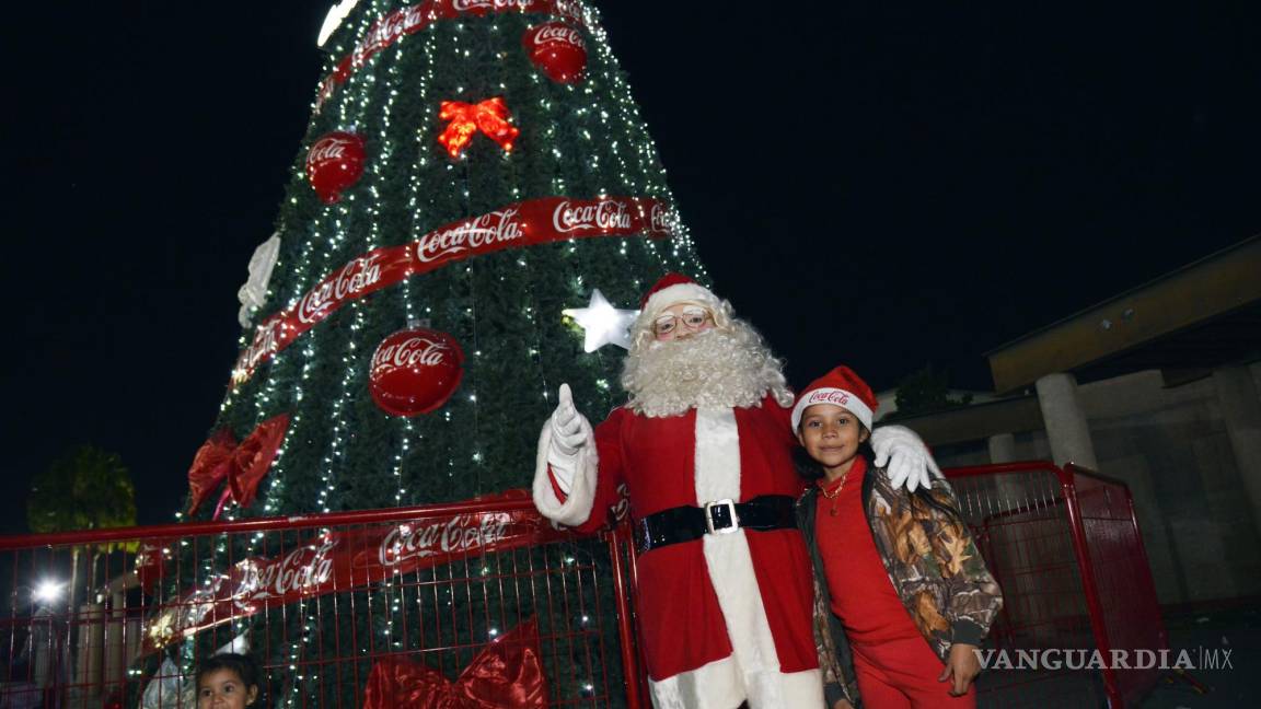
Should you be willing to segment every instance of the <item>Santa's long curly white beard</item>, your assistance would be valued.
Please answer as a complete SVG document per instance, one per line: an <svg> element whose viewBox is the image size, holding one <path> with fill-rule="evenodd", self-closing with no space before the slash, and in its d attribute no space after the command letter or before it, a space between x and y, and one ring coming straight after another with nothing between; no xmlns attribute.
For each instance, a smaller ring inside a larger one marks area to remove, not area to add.
<svg viewBox="0 0 1261 709"><path fill-rule="evenodd" d="M683 339L639 338L627 354L622 387L630 394L630 410L644 416L757 406L767 394L781 406L793 401L783 363L740 320Z"/></svg>

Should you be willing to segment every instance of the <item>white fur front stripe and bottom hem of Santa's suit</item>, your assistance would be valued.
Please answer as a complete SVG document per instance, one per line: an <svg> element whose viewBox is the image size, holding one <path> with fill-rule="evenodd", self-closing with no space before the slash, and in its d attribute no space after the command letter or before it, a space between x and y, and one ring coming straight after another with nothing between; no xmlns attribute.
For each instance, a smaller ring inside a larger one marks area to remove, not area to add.
<svg viewBox="0 0 1261 709"><path fill-rule="evenodd" d="M695 484L697 505L740 500L740 437L733 409L697 409ZM749 706L755 709L822 706L823 685L817 670L788 675L779 671L779 656L762 604L745 531L705 535L702 544L733 653L720 662L685 672L695 676L681 679L668 685L670 689L665 681L656 683L653 701L658 708L687 709L734 706L741 699L748 699ZM734 664L730 671L721 665L728 661ZM731 683L738 684L731 688ZM731 691L740 695L731 700ZM710 694L715 698L712 703Z"/></svg>

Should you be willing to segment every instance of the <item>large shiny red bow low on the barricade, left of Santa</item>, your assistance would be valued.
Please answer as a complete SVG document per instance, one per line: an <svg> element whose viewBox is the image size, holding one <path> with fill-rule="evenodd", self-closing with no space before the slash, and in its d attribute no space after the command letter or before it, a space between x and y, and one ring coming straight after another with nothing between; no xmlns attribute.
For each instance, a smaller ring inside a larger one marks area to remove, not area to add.
<svg viewBox="0 0 1261 709"><path fill-rule="evenodd" d="M547 680L541 655L538 622L530 618L482 648L454 683L407 657L385 657L368 674L363 708L542 709Z"/></svg>

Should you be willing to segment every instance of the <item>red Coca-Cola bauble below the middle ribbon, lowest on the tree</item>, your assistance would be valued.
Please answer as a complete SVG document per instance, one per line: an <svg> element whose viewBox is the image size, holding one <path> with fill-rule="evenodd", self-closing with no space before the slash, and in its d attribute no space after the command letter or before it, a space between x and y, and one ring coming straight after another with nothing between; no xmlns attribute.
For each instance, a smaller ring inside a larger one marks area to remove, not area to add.
<svg viewBox="0 0 1261 709"><path fill-rule="evenodd" d="M455 394L464 373L464 352L455 338L433 329L398 331L372 354L372 400L396 416L438 409Z"/></svg>

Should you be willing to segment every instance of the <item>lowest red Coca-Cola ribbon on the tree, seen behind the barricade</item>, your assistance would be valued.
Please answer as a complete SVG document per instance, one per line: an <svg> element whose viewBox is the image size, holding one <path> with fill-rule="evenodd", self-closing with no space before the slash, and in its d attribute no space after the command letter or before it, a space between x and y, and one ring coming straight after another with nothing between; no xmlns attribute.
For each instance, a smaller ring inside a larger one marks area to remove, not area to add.
<svg viewBox="0 0 1261 709"><path fill-rule="evenodd" d="M503 498L520 498L521 491ZM211 583L160 606L146 621L141 651L207 628L300 601L380 583L396 574L566 539L532 510L416 519L354 531L330 531L284 556L250 558Z"/></svg>

